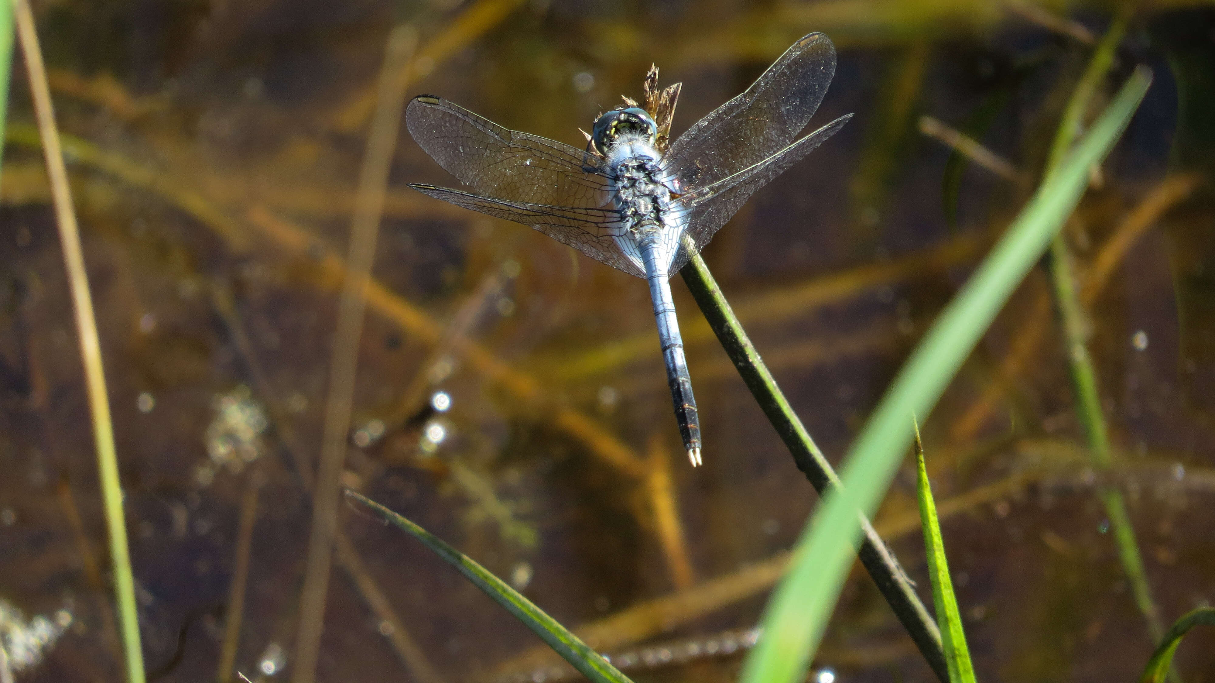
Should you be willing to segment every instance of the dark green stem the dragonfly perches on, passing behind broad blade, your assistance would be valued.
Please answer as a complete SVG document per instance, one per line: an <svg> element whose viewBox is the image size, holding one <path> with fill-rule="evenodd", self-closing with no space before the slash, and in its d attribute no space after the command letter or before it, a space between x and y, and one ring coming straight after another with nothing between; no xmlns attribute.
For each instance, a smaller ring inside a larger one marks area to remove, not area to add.
<svg viewBox="0 0 1215 683"><path fill-rule="evenodd" d="M679 271L679 275L688 283L688 289L705 314L713 333L717 334L722 348L734 361L739 374L742 376L742 382L746 383L751 395L755 396L761 410L768 417L768 422L776 429L776 434L780 435L789 452L793 456L797 469L806 474L819 496L838 489L840 478L814 439L810 438L809 431L806 430L801 418L793 412L793 407L789 405L785 394L776 384L776 379L751 344L742 324L734 316L729 301L722 294L720 287L717 286L708 266L705 265L705 259L700 254L694 255L688 265ZM894 553L864 517L860 519L860 526L864 534L860 548L857 549L860 563L865 565L865 570L874 578L877 589L881 591L882 597L903 622L911 639L915 640L928 666L940 681L948 682L949 668L945 664L937 625L916 595L915 588L903 568L899 566Z"/></svg>

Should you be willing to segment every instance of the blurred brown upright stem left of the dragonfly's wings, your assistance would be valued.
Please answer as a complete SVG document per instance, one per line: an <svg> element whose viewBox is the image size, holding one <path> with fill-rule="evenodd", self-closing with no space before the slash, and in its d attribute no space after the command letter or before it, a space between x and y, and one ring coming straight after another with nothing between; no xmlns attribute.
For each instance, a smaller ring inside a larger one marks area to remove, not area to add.
<svg viewBox="0 0 1215 683"><path fill-rule="evenodd" d="M367 306L367 284L375 259L375 238L384 210L384 191L396 152L405 86L418 33L409 24L395 27L384 49L384 64L377 95L375 115L367 135L363 165L358 175L354 218L350 221L350 250L346 280L338 301L338 322L329 363L329 393L324 407L324 429L316 487L312 490L312 530L309 535L307 566L300 589L300 622L295 636L293 683L312 683L324 631L324 603L329 589L333 542L338 529L339 484L346 457L350 407L355 395L358 339Z"/></svg>

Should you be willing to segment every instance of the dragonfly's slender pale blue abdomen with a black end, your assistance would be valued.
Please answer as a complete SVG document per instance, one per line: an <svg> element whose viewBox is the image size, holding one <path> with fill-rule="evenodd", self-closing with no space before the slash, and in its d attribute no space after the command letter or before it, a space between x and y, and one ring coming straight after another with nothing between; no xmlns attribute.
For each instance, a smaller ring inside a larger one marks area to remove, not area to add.
<svg viewBox="0 0 1215 683"><path fill-rule="evenodd" d="M654 318L659 323L659 342L662 344L662 360L667 365L667 383L671 385L671 399L679 422L679 435L683 436L688 459L695 467L701 464L700 418L696 416L696 399L691 394L691 378L688 376L683 338L679 337L676 305L671 298L667 265L665 260L660 261L662 249L659 239L656 230L645 231L639 247L645 261L645 280L650 283L650 299L654 300Z"/></svg>

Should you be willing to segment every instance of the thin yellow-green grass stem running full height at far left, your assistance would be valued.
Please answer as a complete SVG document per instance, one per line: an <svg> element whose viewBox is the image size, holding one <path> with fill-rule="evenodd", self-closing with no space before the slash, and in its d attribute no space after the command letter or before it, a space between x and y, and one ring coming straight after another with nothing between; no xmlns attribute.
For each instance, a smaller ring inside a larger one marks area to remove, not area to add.
<svg viewBox="0 0 1215 683"><path fill-rule="evenodd" d="M102 506L106 527L109 531L114 600L118 604L123 650L126 655L126 681L143 683L143 654L140 647L139 613L135 606L135 578L131 574L131 558L126 547L126 523L123 517L123 489L118 479L114 425L109 417L106 373L101 362L101 340L97 337L97 321L92 311L92 297L89 293L89 275L84 267L80 228L77 225L75 209L72 207L72 190L68 186L68 173L63 164L58 129L55 125L55 109L51 105L51 91L46 84L46 67L43 64L43 52L38 44L34 15L26 0L13 0L12 7L17 19L17 38L21 40L21 50L26 55L29 90L34 100L38 131L43 140L46 175L51 181L55 219L60 228L63 261L72 290L77 333L80 337L80 357L89 391L94 446L97 448L97 468L101 475Z"/></svg>

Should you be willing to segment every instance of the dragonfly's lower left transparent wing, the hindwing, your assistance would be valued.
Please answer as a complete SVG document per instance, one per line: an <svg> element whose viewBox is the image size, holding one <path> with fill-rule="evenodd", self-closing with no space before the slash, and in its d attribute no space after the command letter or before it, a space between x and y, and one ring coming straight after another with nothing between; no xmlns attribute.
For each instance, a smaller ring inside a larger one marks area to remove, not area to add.
<svg viewBox="0 0 1215 683"><path fill-rule="evenodd" d="M625 255L616 243L615 237L625 235L625 228L621 227L620 214L615 209L512 202L434 185L409 185L409 187L457 207L530 225L601 264L628 275L645 277L645 270Z"/></svg>

